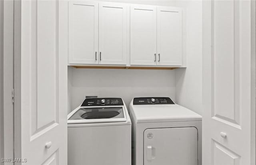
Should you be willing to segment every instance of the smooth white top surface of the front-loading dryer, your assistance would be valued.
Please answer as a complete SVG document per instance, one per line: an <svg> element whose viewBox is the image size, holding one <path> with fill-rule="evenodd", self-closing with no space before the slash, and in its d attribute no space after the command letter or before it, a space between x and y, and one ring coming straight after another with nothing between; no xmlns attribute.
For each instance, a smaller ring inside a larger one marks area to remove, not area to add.
<svg viewBox="0 0 256 165"><path fill-rule="evenodd" d="M136 123L202 121L202 116L177 104L131 105Z"/></svg>

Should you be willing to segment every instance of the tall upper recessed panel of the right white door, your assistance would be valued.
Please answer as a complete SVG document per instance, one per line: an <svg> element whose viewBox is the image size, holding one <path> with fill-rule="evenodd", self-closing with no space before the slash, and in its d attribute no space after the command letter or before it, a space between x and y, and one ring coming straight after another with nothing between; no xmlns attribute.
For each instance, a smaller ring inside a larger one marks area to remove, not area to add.
<svg viewBox="0 0 256 165"><path fill-rule="evenodd" d="M212 1L212 117L238 128L241 110L239 13L237 1ZM220 19L221 16L225 19Z"/></svg>

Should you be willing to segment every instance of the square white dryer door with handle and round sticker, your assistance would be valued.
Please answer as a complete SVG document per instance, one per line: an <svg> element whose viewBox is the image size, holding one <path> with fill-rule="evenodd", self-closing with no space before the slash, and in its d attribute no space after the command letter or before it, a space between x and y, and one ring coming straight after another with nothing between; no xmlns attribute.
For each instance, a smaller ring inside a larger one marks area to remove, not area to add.
<svg viewBox="0 0 256 165"><path fill-rule="evenodd" d="M197 165L195 127L154 128L144 131L144 165Z"/></svg>

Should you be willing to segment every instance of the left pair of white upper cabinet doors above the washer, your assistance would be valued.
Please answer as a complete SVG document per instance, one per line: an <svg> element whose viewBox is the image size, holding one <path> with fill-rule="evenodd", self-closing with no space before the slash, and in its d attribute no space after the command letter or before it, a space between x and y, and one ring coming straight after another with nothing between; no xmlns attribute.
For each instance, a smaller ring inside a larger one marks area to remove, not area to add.
<svg viewBox="0 0 256 165"><path fill-rule="evenodd" d="M127 5L70 1L69 63L125 65Z"/></svg>

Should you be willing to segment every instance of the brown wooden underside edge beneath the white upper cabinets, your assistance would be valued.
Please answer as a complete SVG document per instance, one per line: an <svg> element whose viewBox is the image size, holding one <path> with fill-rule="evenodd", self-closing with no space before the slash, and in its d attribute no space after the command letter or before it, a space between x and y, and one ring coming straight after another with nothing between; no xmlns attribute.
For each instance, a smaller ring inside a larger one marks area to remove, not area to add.
<svg viewBox="0 0 256 165"><path fill-rule="evenodd" d="M138 66L71 66L73 68L93 69L144 69L144 70L174 70L174 67L138 67Z"/></svg>

